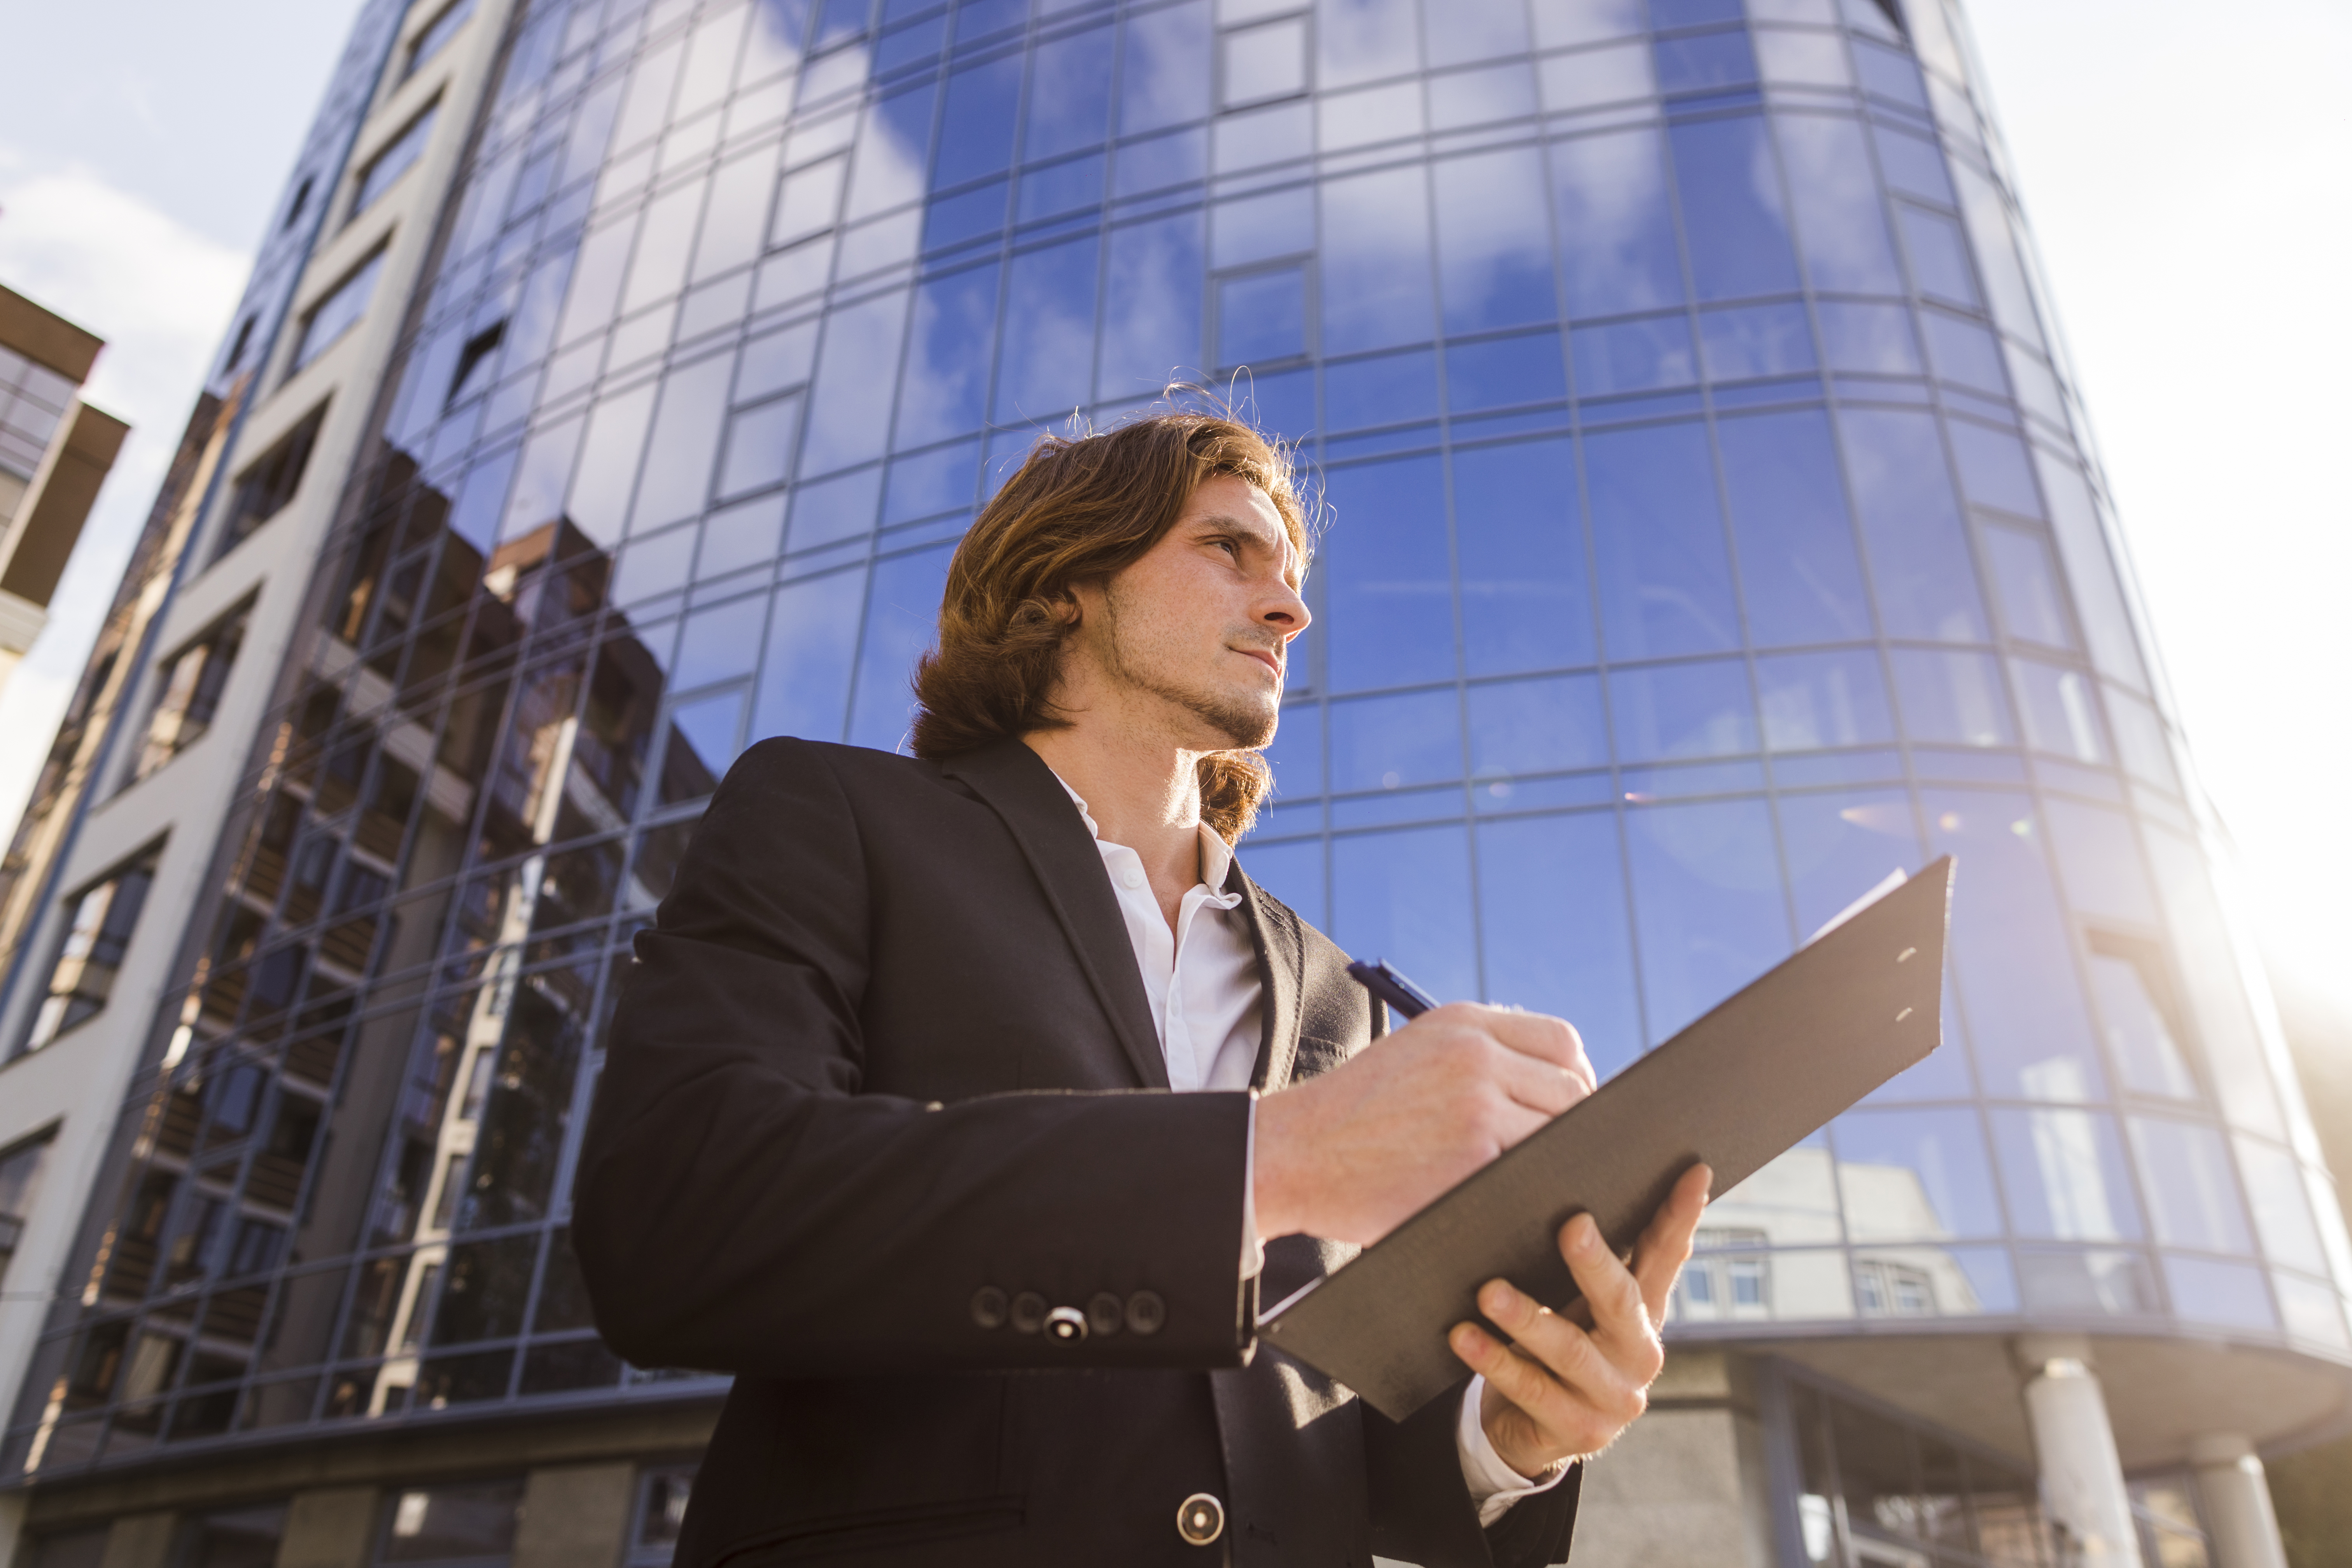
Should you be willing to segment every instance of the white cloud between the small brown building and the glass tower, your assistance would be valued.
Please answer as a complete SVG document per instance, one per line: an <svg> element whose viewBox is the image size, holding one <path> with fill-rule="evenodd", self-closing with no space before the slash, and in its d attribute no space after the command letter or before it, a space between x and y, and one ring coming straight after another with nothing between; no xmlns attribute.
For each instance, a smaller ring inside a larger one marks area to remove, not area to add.
<svg viewBox="0 0 2352 1568"><path fill-rule="evenodd" d="M80 167L0 146L0 282L106 339L82 397L132 425L49 625L0 689L0 832L14 832L179 447L252 259Z"/></svg>

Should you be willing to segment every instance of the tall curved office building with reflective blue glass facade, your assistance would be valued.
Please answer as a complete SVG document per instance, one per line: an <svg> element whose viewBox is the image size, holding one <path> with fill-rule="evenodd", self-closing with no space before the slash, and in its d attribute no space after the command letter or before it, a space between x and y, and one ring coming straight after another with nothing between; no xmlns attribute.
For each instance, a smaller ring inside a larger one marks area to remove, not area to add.
<svg viewBox="0 0 2352 1568"><path fill-rule="evenodd" d="M724 1385L567 1244L628 940L1171 374L1336 512L1240 853L1343 945L1611 1072L1962 860L1576 1561L2279 1561L2352 1246L1952 0L372 0L0 905L26 1561L666 1561Z"/></svg>

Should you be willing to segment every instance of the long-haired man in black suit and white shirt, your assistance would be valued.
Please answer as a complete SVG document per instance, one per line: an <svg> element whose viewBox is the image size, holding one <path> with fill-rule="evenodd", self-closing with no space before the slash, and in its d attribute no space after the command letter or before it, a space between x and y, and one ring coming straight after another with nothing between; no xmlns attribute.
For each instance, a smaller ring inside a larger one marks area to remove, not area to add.
<svg viewBox="0 0 2352 1568"><path fill-rule="evenodd" d="M1047 440L957 550L915 757L727 773L612 1027L576 1182L597 1326L736 1375L684 1568L1566 1556L1644 1406L1698 1168L1590 1309L1505 1281L1392 1425L1254 1347L1592 1088L1557 1018L1385 1034L1230 844L1308 529L1284 456L1167 414ZM1564 889L1562 896L1573 896Z"/></svg>

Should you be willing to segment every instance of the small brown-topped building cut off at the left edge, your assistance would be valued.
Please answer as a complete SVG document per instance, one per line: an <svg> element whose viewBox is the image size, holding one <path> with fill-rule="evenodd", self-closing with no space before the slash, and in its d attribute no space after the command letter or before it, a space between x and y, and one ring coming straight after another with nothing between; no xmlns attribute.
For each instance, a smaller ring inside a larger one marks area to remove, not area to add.
<svg viewBox="0 0 2352 1568"><path fill-rule="evenodd" d="M49 595L129 435L75 397L106 343L0 287L0 686L49 621Z"/></svg>

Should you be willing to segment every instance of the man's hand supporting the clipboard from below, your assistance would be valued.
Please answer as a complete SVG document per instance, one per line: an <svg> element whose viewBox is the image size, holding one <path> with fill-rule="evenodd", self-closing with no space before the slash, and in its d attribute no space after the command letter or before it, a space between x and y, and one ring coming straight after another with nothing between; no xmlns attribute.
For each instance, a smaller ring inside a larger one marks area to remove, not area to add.
<svg viewBox="0 0 2352 1568"><path fill-rule="evenodd" d="M1708 1166L1682 1173L1635 1244L1630 1269L1609 1251L1592 1215L1559 1227L1559 1255L1590 1307L1590 1328L1503 1279L1486 1281L1477 1302L1510 1345L1477 1324L1454 1326L1454 1354L1486 1375L1479 1406L1486 1441L1522 1476L1599 1453L1649 1408L1649 1385L1665 1366L1658 1342L1665 1298L1691 1258L1710 1180Z"/></svg>

